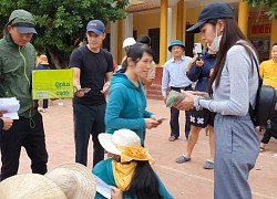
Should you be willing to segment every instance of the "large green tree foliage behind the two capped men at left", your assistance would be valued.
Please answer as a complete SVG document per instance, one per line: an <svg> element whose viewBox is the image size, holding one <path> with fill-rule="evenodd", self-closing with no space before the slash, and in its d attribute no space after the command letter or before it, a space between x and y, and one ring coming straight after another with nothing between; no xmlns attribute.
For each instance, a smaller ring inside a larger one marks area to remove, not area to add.
<svg viewBox="0 0 277 199"><path fill-rule="evenodd" d="M13 10L28 10L37 20L34 46L63 56L62 52L71 53L84 39L90 20L107 22L123 19L127 4L129 0L1 0L0 28L8 22Z"/></svg>

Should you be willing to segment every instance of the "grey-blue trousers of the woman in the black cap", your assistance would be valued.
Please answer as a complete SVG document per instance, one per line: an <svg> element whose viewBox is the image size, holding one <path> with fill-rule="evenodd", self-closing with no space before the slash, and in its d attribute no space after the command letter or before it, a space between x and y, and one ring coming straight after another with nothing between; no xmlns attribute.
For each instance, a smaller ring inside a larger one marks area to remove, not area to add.
<svg viewBox="0 0 277 199"><path fill-rule="evenodd" d="M252 199L259 138L249 116L215 116L214 199Z"/></svg>

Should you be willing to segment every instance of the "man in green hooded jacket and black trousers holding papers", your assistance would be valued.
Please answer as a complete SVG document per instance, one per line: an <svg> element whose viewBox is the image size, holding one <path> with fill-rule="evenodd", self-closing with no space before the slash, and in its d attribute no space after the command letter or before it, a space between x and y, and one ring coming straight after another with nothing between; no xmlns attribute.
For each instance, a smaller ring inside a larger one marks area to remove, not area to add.
<svg viewBox="0 0 277 199"><path fill-rule="evenodd" d="M1 132L1 176L17 175L21 146L31 159L32 172L45 174L48 153L42 116L31 96L31 76L35 69L35 50L30 43L35 21L25 10L14 10L0 40L0 97L20 101L19 119Z"/></svg>

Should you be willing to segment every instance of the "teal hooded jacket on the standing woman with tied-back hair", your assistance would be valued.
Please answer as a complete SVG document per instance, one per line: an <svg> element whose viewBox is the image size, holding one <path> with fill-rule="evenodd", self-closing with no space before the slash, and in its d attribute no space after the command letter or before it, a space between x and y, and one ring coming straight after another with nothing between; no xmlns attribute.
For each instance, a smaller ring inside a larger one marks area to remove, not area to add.
<svg viewBox="0 0 277 199"><path fill-rule="evenodd" d="M135 132L144 144L144 118L150 118L153 115L145 108L146 98L141 81L138 81L138 87L136 87L125 73L114 74L111 78L105 113L106 132L112 134L116 129L127 128Z"/></svg>

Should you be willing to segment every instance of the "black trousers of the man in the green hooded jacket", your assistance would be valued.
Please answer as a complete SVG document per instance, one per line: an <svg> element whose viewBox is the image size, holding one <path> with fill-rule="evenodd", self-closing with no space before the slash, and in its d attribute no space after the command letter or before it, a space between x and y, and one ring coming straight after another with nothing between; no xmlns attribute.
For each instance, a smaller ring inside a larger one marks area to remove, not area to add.
<svg viewBox="0 0 277 199"><path fill-rule="evenodd" d="M14 119L9 130L1 132L1 179L18 174L21 146L31 159L31 169L34 174L47 172L48 153L42 116L37 113L32 118Z"/></svg>

